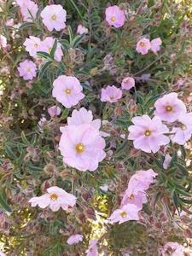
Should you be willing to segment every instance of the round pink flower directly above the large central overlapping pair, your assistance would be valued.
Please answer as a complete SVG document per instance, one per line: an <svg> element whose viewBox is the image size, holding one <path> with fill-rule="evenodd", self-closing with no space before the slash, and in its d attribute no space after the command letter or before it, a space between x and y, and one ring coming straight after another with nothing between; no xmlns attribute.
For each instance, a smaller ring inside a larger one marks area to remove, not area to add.
<svg viewBox="0 0 192 256"><path fill-rule="evenodd" d="M83 87L75 77L61 75L55 79L53 86L52 96L65 108L72 108L84 98Z"/></svg>

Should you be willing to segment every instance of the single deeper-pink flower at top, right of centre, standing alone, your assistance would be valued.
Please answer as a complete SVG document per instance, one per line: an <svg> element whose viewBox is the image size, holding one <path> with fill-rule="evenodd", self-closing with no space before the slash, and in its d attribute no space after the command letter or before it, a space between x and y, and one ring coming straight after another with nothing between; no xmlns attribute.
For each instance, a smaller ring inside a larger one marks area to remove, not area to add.
<svg viewBox="0 0 192 256"><path fill-rule="evenodd" d="M119 6L113 5L109 6L105 10L106 20L110 26L120 27L124 26L125 23L125 13Z"/></svg>

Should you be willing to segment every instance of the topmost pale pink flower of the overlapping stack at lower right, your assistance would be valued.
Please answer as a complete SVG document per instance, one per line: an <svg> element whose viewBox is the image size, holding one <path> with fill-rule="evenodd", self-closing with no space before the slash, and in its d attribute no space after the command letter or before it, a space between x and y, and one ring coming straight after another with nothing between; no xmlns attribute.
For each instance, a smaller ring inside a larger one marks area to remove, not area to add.
<svg viewBox="0 0 192 256"><path fill-rule="evenodd" d="M125 191L126 197L134 199L134 197L139 194L139 192L144 192L149 189L150 184L154 183L154 177L158 174L152 169L148 171L138 171L131 176L131 179L128 183L128 188ZM143 199L144 201L144 199Z"/></svg>

